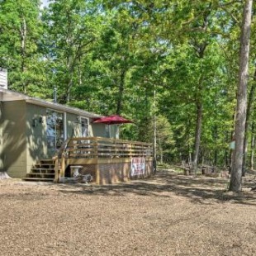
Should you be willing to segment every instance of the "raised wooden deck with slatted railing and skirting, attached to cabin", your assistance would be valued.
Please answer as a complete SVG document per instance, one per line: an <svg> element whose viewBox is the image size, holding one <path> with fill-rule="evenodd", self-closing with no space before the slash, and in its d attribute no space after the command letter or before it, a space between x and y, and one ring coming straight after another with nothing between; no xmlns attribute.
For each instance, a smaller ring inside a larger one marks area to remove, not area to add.
<svg viewBox="0 0 256 256"><path fill-rule="evenodd" d="M55 157L55 182L59 182L59 178L67 175L70 166L83 166L89 169L88 172L94 175L96 183L107 183L102 178L106 176L102 174L103 166L104 172L110 173L111 171L113 175L108 175L115 176L116 181L129 179L131 159L144 159L145 163L151 163L153 160L152 145L139 141L102 137L72 138L65 143L58 156ZM109 170L106 170L107 167ZM111 180L111 178L107 179Z"/></svg>

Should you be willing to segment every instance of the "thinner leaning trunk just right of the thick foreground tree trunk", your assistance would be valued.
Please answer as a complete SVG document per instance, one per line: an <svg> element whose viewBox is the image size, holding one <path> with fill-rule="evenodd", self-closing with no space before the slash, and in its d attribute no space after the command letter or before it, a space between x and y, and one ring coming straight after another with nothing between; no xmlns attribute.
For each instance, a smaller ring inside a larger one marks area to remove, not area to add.
<svg viewBox="0 0 256 256"><path fill-rule="evenodd" d="M256 69L254 71L254 80L256 76ZM252 84L252 87L249 91L249 99L246 109L246 121L245 121L245 129L244 129L244 157L243 157L243 168L242 168L242 176L245 176L246 172L246 159L247 159L247 148L248 148L248 133L249 133L249 119L251 116L252 109L254 107L254 94L255 94L256 83Z"/></svg>

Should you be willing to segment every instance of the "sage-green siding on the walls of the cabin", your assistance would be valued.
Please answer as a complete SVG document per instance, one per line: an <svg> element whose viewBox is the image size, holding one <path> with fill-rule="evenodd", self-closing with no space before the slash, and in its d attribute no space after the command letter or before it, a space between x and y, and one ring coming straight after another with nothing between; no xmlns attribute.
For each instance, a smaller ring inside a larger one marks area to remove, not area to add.
<svg viewBox="0 0 256 256"><path fill-rule="evenodd" d="M46 107L23 100L1 104L0 170L7 171L12 178L24 178L36 161L52 157L47 152ZM68 138L81 136L78 115L67 113L66 121ZM107 135L105 125L91 125L91 121L89 136Z"/></svg>

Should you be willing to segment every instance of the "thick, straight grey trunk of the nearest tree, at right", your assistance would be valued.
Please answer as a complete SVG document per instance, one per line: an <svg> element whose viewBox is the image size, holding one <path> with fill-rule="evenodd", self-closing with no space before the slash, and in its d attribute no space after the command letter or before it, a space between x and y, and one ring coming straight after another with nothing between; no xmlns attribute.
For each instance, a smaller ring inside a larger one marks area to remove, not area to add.
<svg viewBox="0 0 256 256"><path fill-rule="evenodd" d="M235 151L231 168L230 191L239 192L242 189L242 165L244 153L244 130L246 120L246 89L249 70L249 36L253 0L244 3L243 24L241 28L239 54L239 84L237 93L235 118Z"/></svg>

